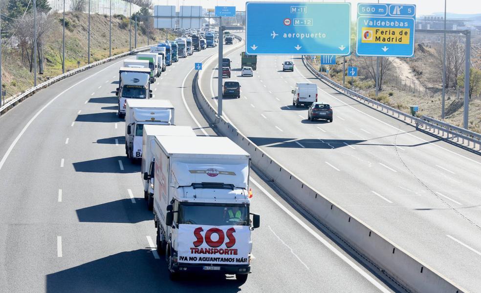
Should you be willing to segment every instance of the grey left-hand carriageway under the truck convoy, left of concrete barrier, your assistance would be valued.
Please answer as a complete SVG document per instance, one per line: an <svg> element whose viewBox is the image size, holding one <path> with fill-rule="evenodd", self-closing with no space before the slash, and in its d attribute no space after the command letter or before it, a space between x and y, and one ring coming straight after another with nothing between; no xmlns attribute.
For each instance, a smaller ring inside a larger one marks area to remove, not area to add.
<svg viewBox="0 0 481 293"><path fill-rule="evenodd" d="M197 135L215 133L192 96L194 62L216 52L180 59L152 85L155 99L174 104L175 124ZM251 211L261 228L247 282L171 281L140 165L125 156L114 96L120 62L66 78L0 117L0 292L395 292L254 172Z"/></svg>

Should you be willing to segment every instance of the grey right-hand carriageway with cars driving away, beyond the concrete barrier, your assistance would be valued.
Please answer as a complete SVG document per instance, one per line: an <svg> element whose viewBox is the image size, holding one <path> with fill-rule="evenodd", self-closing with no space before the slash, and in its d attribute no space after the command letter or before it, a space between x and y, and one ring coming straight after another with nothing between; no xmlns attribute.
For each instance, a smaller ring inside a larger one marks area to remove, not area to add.
<svg viewBox="0 0 481 293"><path fill-rule="evenodd" d="M243 35L240 35L242 38ZM226 46L229 47L229 46ZM241 84L223 114L287 170L470 292L481 292L481 158L348 98L315 78L300 57L258 56L240 76L241 46L224 58ZM294 72L283 72L292 60ZM201 78L217 103L216 62ZM292 106L296 82L318 85L334 121Z"/></svg>

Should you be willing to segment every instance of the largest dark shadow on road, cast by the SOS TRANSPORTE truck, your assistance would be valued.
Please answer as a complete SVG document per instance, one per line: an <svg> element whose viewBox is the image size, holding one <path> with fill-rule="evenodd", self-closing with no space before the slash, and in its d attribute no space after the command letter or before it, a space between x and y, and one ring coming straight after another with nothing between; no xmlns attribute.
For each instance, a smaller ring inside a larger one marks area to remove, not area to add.
<svg viewBox="0 0 481 293"><path fill-rule="evenodd" d="M248 281L247 281L248 282ZM223 275L181 276L171 281L163 257L147 249L122 252L46 275L47 293L237 293L239 283Z"/></svg>

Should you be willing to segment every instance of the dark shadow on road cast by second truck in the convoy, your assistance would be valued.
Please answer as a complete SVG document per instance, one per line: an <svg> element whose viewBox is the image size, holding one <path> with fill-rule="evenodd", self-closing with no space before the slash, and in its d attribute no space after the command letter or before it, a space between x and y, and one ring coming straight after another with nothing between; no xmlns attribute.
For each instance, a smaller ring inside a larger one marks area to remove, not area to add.
<svg viewBox="0 0 481 293"><path fill-rule="evenodd" d="M132 203L130 198L78 209L80 222L89 223L139 223L153 220L153 214L147 209L143 198L136 198Z"/></svg>

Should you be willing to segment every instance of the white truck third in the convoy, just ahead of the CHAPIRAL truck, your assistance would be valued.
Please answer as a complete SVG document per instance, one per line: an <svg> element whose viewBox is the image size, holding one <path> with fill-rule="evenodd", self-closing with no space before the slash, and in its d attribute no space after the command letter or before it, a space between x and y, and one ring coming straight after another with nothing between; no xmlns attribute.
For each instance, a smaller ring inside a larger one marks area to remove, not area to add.
<svg viewBox="0 0 481 293"><path fill-rule="evenodd" d="M127 100L125 153L132 162L142 158L144 124L174 124L174 106L172 103L169 100Z"/></svg>

